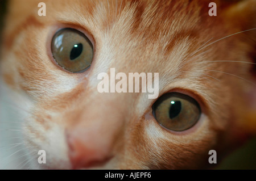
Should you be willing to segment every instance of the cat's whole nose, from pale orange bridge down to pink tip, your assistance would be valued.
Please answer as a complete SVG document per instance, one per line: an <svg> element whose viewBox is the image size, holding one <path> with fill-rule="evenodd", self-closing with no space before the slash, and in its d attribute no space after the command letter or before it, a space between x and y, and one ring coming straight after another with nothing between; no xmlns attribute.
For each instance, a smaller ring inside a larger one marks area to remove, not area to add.
<svg viewBox="0 0 256 181"><path fill-rule="evenodd" d="M73 169L105 168L118 157L127 119L127 103L120 96L94 93L80 102L81 110L67 114L65 134Z"/></svg>

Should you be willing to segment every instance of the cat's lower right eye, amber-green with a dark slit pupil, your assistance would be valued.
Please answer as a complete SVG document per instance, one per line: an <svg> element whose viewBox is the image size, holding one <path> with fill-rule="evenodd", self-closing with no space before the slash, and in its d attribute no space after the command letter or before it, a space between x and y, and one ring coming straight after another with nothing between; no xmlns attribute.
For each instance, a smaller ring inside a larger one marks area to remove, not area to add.
<svg viewBox="0 0 256 181"><path fill-rule="evenodd" d="M160 125L180 132L192 128L199 121L201 109L190 96L171 92L156 100L152 113Z"/></svg>

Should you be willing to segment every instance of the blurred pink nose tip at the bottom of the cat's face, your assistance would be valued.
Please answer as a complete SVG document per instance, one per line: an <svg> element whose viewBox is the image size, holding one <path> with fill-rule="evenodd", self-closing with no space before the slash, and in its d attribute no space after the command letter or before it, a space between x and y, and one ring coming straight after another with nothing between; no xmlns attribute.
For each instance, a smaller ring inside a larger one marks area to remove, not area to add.
<svg viewBox="0 0 256 181"><path fill-rule="evenodd" d="M72 169L102 166L110 159L107 141L85 132L83 130L67 132L68 155Z"/></svg>

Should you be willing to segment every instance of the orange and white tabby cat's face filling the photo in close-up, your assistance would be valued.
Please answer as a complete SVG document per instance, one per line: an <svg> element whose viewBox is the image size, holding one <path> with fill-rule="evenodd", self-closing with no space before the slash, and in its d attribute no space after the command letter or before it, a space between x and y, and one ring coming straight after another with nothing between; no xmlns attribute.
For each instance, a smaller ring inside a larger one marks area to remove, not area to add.
<svg viewBox="0 0 256 181"><path fill-rule="evenodd" d="M255 135L255 0L43 2L7 5L0 169L205 169ZM98 92L110 68L158 98Z"/></svg>

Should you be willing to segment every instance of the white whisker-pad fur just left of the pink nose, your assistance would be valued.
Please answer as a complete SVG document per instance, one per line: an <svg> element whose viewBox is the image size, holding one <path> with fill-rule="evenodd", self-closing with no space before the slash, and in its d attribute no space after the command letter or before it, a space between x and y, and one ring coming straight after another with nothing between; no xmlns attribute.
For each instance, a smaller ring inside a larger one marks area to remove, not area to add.
<svg viewBox="0 0 256 181"><path fill-rule="evenodd" d="M31 119L24 125L23 134L30 165L34 168L71 169L64 129L60 125L49 123L46 129Z"/></svg>

